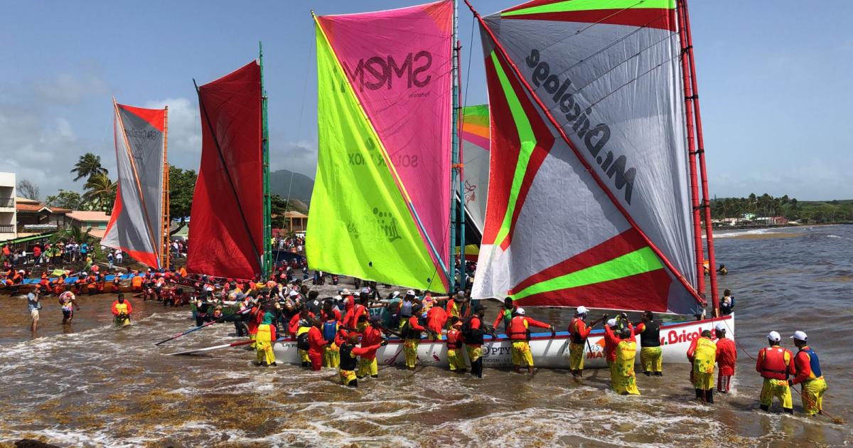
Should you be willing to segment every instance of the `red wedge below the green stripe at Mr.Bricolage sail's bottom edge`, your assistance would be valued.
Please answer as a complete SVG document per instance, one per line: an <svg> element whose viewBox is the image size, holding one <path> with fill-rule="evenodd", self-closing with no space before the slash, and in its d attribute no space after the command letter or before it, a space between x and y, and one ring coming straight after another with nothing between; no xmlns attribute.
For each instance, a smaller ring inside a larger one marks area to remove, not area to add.
<svg viewBox="0 0 853 448"><path fill-rule="evenodd" d="M625 297L635 298L631 309L666 312L672 278L664 269L577 288L557 289L515 300L519 306L578 306L624 309Z"/></svg>

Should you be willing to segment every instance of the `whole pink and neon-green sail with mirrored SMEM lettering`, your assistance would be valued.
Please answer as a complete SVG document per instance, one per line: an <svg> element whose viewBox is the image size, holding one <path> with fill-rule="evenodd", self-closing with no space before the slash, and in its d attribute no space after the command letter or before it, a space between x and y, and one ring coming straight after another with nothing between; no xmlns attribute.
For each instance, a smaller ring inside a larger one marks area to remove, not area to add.
<svg viewBox="0 0 853 448"><path fill-rule="evenodd" d="M311 269L447 292L452 7L316 17Z"/></svg>

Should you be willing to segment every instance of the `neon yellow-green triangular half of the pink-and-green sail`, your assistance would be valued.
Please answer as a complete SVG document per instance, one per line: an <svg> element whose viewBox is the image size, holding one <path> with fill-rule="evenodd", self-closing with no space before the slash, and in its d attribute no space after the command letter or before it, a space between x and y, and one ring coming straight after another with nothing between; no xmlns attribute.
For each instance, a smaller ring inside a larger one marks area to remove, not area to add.
<svg viewBox="0 0 853 448"><path fill-rule="evenodd" d="M316 23L316 181L305 232L312 269L446 292L382 156L379 137Z"/></svg>

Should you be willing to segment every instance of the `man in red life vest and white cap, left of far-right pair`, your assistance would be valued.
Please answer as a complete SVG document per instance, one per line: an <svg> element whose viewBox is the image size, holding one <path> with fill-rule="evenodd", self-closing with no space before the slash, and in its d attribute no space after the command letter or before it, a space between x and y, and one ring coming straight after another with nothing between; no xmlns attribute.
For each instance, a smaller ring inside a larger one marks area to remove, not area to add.
<svg viewBox="0 0 853 448"><path fill-rule="evenodd" d="M769 346L758 352L755 369L764 378L759 402L762 410L770 410L773 399L778 398L782 410L793 414L791 387L788 385L788 375L794 373L793 355L788 349L779 346L781 339L779 333L771 331L767 335Z"/></svg>

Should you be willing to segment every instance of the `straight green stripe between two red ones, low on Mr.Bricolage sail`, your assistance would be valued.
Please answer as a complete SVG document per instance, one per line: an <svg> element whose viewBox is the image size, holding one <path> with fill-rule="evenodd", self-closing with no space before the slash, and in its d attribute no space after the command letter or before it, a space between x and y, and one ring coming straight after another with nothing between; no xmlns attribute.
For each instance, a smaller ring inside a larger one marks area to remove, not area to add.
<svg viewBox="0 0 853 448"><path fill-rule="evenodd" d="M545 282L531 285L511 297L514 300L524 299L533 294L548 293L560 289L578 288L594 283L610 282L626 276L635 276L649 271L663 269L658 256L651 247L643 247L631 253L626 253L600 265L589 266L586 269L558 276Z"/></svg>

